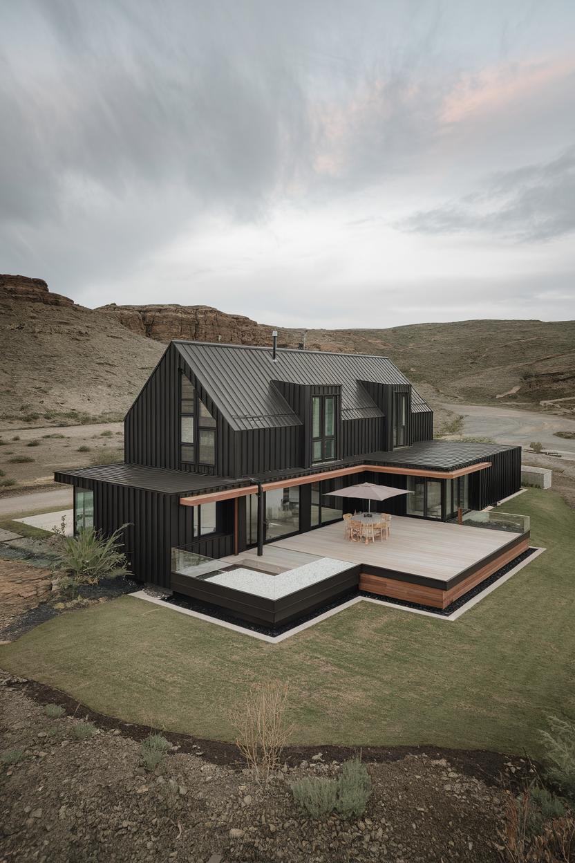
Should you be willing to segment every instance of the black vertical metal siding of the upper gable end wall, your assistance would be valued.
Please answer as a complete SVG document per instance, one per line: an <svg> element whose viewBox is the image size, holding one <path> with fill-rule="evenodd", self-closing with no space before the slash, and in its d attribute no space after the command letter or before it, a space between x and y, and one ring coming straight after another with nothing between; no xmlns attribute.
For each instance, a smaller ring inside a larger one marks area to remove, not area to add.
<svg viewBox="0 0 575 863"><path fill-rule="evenodd" d="M134 401L124 420L124 457L128 463L194 471L180 461L179 375L188 375L197 394L216 419L216 465L200 473L234 476L234 432L222 417L193 369L171 344Z"/></svg>

